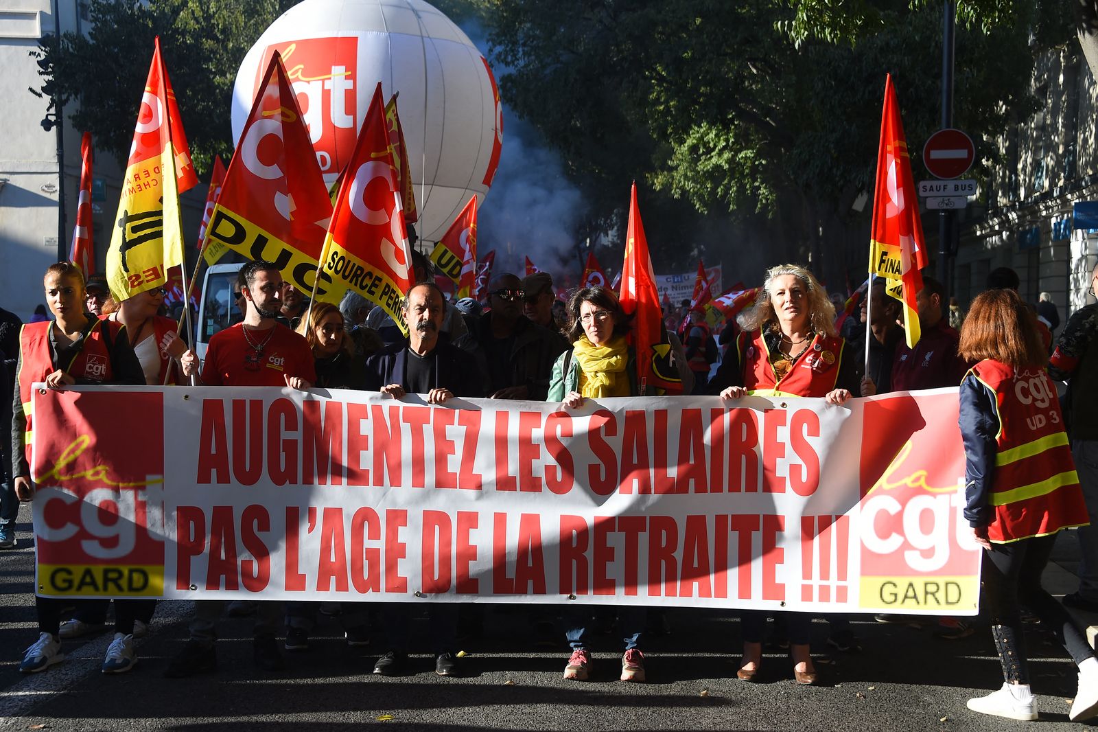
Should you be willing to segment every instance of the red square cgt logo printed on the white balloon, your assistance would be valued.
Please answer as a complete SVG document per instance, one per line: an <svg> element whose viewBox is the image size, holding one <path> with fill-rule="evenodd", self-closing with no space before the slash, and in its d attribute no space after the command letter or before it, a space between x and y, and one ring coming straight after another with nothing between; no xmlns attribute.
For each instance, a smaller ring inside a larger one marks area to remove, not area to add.
<svg viewBox="0 0 1098 732"><path fill-rule="evenodd" d="M298 103L324 175L339 173L338 162L355 149L358 132L358 37L304 38L274 43L264 51L254 89L278 51L298 95ZM343 157L340 157L340 153Z"/></svg>

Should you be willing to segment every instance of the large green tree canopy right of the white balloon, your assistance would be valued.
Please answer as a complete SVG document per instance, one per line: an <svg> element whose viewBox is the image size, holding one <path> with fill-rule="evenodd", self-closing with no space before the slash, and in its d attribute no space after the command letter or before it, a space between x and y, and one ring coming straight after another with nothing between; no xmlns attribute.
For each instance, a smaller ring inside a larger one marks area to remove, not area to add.
<svg viewBox="0 0 1098 732"><path fill-rule="evenodd" d="M505 100L560 149L585 188L643 177L703 214L771 218L771 260L829 281L864 268L884 77L909 142L937 127L940 8L829 0L495 0ZM1043 5L1004 3L957 34L957 124L989 141L1034 109L1031 31ZM822 20L820 20L822 19ZM916 166L919 175L918 166ZM597 192L592 196L597 200Z"/></svg>

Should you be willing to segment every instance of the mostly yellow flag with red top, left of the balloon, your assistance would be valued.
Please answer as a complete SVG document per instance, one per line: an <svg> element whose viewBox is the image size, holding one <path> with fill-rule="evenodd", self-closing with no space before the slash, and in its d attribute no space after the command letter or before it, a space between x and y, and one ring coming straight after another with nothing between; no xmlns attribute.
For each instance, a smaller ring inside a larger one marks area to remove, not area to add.
<svg viewBox="0 0 1098 732"><path fill-rule="evenodd" d="M198 182L157 36L107 252L115 301L164 286L167 269L183 263L179 193Z"/></svg>

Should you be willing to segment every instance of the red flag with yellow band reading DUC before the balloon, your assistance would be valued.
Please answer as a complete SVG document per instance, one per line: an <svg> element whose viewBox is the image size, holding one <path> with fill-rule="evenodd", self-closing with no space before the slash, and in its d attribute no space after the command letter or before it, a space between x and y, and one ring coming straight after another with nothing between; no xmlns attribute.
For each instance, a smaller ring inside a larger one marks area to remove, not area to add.
<svg viewBox="0 0 1098 732"><path fill-rule="evenodd" d="M274 53L225 170L203 258L213 264L233 249L273 262L302 292L324 291L327 282L315 281L316 263L330 218L332 201L298 96Z"/></svg>

